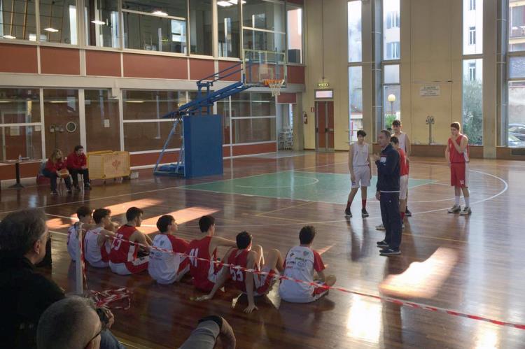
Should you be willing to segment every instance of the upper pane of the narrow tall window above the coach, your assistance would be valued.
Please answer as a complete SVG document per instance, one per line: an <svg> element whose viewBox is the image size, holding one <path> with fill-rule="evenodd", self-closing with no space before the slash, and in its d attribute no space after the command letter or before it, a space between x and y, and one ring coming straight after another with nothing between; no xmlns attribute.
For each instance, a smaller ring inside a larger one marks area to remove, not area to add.
<svg viewBox="0 0 525 349"><path fill-rule="evenodd" d="M383 59L400 59L400 0L383 1Z"/></svg>

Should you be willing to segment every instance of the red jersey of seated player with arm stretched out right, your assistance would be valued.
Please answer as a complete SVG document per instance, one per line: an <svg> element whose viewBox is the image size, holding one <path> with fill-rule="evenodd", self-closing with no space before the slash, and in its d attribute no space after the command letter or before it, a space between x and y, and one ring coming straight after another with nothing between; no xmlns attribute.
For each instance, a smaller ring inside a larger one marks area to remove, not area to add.
<svg viewBox="0 0 525 349"><path fill-rule="evenodd" d="M206 236L200 240L192 240L186 252L190 259L190 273L193 276L193 285L204 291L211 291L214 287L217 280L217 272L220 269L217 263L210 263L195 258L217 260L217 249L214 250L212 256L209 255L210 242L211 236Z"/></svg>

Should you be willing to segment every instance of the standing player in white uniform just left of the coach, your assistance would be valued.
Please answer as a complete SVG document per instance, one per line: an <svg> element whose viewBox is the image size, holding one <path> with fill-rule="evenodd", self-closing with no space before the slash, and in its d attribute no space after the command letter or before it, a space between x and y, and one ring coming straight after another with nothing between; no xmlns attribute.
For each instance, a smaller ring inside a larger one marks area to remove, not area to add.
<svg viewBox="0 0 525 349"><path fill-rule="evenodd" d="M350 145L348 151L348 168L350 170L350 180L352 188L348 195L346 202L346 209L344 214L351 217L350 206L353 198L356 197L359 187L361 187L361 217L368 217L366 211L366 197L367 187L370 187L370 179L372 178L372 169L370 168L370 160L368 155L368 143L365 142L366 132L360 129L357 131L357 142Z"/></svg>

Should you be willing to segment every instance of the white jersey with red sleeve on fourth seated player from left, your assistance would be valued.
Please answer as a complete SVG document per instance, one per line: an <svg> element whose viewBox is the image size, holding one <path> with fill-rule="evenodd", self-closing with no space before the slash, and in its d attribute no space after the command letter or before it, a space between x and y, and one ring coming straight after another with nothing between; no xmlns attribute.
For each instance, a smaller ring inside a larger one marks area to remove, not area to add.
<svg viewBox="0 0 525 349"><path fill-rule="evenodd" d="M188 258L181 255L188 248L185 240L169 234L158 234L153 238L153 246L174 253L151 248L148 266L151 278L158 283L174 283L181 274L188 272L190 269Z"/></svg>

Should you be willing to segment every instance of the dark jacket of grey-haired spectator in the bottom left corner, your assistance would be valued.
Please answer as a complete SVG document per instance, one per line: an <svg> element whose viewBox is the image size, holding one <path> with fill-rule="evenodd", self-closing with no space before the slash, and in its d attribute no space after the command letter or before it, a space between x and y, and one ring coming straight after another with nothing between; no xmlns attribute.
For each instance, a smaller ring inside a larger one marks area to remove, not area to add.
<svg viewBox="0 0 525 349"><path fill-rule="evenodd" d="M0 252L1 348L36 348L36 326L64 291L35 271L25 257Z"/></svg>

